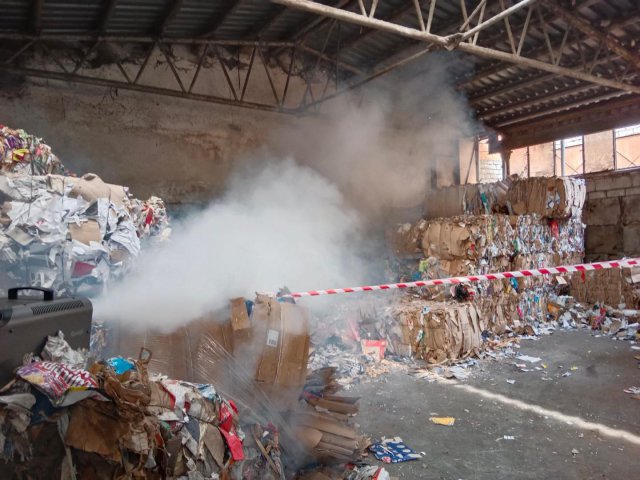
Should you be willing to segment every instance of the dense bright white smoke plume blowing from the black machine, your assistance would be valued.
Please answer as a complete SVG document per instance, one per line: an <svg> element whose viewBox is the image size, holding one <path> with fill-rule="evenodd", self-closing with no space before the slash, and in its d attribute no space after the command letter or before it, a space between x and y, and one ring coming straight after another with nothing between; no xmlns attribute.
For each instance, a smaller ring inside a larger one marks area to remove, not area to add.
<svg viewBox="0 0 640 480"><path fill-rule="evenodd" d="M361 225L339 190L292 160L261 160L97 299L95 318L168 332L256 291L361 282Z"/></svg>

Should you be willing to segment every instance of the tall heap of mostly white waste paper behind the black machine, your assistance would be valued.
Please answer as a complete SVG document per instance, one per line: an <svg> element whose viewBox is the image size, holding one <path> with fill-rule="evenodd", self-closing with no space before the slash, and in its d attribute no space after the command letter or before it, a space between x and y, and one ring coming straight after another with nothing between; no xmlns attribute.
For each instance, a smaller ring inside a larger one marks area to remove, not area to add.
<svg viewBox="0 0 640 480"><path fill-rule="evenodd" d="M95 174L72 176L40 139L0 126L0 290L87 295L170 234L163 201Z"/></svg>

